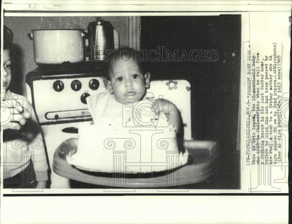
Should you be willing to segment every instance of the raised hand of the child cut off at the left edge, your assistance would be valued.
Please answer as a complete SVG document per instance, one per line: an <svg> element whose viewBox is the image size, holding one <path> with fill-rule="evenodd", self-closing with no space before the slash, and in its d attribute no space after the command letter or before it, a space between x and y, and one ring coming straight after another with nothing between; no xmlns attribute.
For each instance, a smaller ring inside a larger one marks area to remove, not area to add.
<svg viewBox="0 0 292 224"><path fill-rule="evenodd" d="M23 125L26 123L26 119L30 117L29 111L22 107L21 104L16 100L16 99L9 99L11 103L7 104L5 108L1 111L1 123L5 124L4 130L5 129L14 129L14 130L19 130ZM5 101L4 101L5 102ZM3 104L5 104L3 102ZM2 103L2 102L1 102ZM10 119L10 121L6 120Z"/></svg>

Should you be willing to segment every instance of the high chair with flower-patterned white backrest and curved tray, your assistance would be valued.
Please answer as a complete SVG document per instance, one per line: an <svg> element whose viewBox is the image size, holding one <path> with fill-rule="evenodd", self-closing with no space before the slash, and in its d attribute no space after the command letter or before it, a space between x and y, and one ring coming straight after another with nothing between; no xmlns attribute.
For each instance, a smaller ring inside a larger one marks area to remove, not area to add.
<svg viewBox="0 0 292 224"><path fill-rule="evenodd" d="M103 91L106 91L105 88ZM136 174L105 174L79 170L66 161L66 155L77 149L78 139L63 142L56 150L53 170L56 174L95 185L113 188L183 188L210 178L219 165L219 145L214 141L194 141L191 130L191 86L186 80L151 81L146 97L164 98L180 111L183 126L183 148L189 152L189 160L183 167L166 172ZM121 181L123 180L123 181ZM97 187L98 188L98 187Z"/></svg>

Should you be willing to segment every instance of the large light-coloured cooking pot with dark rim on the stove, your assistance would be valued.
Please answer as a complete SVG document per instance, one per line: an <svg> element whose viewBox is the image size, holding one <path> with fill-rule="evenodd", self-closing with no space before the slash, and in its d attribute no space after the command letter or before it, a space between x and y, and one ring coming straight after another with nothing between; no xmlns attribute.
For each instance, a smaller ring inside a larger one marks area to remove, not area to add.
<svg viewBox="0 0 292 224"><path fill-rule="evenodd" d="M34 61L39 64L80 62L85 35L81 29L33 29L28 36L34 41Z"/></svg>

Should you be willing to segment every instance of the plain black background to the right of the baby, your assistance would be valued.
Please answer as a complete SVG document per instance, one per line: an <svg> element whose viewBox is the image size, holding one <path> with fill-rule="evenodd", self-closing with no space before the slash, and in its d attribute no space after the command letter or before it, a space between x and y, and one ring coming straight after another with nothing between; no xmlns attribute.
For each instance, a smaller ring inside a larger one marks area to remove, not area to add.
<svg viewBox="0 0 292 224"><path fill-rule="evenodd" d="M241 15L142 16L141 49L158 49L158 46L171 52L218 50L216 62L156 61L148 62L148 70L152 80L190 82L192 137L217 140L222 149L222 167L215 176L216 184L210 187L239 188Z"/></svg>

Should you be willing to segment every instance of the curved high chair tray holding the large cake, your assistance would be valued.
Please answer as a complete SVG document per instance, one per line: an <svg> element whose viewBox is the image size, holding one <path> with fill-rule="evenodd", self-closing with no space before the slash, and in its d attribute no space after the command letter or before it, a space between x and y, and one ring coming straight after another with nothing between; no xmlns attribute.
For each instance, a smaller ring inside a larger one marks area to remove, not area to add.
<svg viewBox="0 0 292 224"><path fill-rule="evenodd" d="M198 183L209 179L219 165L220 147L215 141L187 141L188 162L173 170L121 174L78 169L70 165L66 156L77 150L78 138L62 142L55 151L53 170L56 174L76 181L114 188L166 188Z"/></svg>

